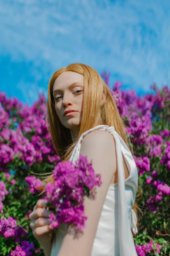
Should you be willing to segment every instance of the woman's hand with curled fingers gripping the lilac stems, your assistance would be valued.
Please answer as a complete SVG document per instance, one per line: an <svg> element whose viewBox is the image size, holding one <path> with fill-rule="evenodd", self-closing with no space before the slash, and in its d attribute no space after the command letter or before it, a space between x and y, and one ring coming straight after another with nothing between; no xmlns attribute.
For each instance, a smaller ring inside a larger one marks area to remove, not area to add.
<svg viewBox="0 0 170 256"><path fill-rule="evenodd" d="M46 202L43 199L39 199L34 206L33 212L29 214L29 219L31 220L30 227L33 231L34 237L42 245L44 243L50 243L53 237L54 229L50 229L50 213L54 211L45 209ZM50 206L54 208L54 206Z"/></svg>

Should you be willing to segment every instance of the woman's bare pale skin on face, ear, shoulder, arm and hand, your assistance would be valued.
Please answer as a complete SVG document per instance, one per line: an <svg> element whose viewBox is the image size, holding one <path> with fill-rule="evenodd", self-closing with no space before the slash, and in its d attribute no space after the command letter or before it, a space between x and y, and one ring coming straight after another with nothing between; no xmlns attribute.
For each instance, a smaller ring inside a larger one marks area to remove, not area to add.
<svg viewBox="0 0 170 256"><path fill-rule="evenodd" d="M73 86L69 87L71 84ZM70 129L72 141L75 141L76 134L80 129L83 106L84 77L76 72L64 72L55 80L53 86L53 97L55 99L55 111L64 127ZM58 90L56 92L56 90ZM105 101L105 96L101 104ZM64 116L65 110L75 110L76 113ZM56 256L90 256L92 245L97 230L98 221L105 201L109 185L116 183L117 160L116 147L113 136L104 130L89 132L81 143L80 154L87 156L88 161L92 160L95 173L101 174L102 185L96 188L95 200L85 198L85 215L88 217L83 235L74 239L69 232L66 233L59 253ZM125 179L129 172L124 161ZM44 248L46 256L50 256L52 247L53 230L50 230L49 214L46 210L44 200L38 200L33 212L30 213L30 227L33 235Z"/></svg>

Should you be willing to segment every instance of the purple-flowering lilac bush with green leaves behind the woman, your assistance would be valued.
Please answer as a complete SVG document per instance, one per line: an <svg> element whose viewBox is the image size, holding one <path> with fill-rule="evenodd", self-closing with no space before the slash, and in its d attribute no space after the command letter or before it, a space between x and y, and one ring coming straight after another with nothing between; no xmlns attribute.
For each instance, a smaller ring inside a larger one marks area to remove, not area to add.
<svg viewBox="0 0 170 256"><path fill-rule="evenodd" d="M109 85L109 74L103 73ZM164 86L144 97L135 91L111 94L134 147L143 198L144 216L134 237L138 255L170 255L170 90ZM46 99L29 107L0 93L0 255L44 255L29 226L29 213L39 199L42 185L35 173L45 175L59 168L47 132Z"/></svg>

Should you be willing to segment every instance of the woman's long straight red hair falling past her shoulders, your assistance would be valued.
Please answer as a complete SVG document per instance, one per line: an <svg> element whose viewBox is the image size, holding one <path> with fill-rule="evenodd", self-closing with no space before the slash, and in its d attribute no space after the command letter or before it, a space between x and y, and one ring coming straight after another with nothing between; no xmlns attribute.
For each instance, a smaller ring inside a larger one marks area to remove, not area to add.
<svg viewBox="0 0 170 256"><path fill-rule="evenodd" d="M83 114L80 130L74 143L72 143L70 130L68 128L65 128L61 124L56 114L53 100L54 82L57 77L60 76L60 74L67 71L76 72L84 76ZM101 105L103 94L105 94L106 100L104 104ZM120 137L130 149L132 155L134 154L132 142L130 138L126 135L126 126L120 116L116 102L113 99L112 94L110 93L110 88L106 85L98 72L88 65L81 63L72 63L67 67L60 68L56 72L54 72L54 74L50 78L48 86L46 120L49 125L48 131L51 136L52 144L54 145L57 155L61 158L62 161L69 161L73 149L77 144L81 134L98 125L114 126L117 133L120 135ZM51 175L49 177L42 178L42 180L44 183L54 181ZM41 192L40 195L42 193L43 192ZM140 198L137 200L137 197ZM137 205L137 201L139 201L141 198L142 192L140 191L140 188L138 186L135 203L132 207L137 216L137 227L139 225L137 213L138 211L142 213L141 209ZM133 236L135 236L134 233Z"/></svg>

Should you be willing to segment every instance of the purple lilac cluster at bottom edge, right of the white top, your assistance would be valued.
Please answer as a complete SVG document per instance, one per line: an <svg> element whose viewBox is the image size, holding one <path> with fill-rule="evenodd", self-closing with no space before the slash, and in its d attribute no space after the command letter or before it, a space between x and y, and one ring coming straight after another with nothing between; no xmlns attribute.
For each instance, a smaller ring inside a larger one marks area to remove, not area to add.
<svg viewBox="0 0 170 256"><path fill-rule="evenodd" d="M153 242L150 240L148 245L146 244L143 244L142 246L136 245L135 248L136 248L137 255L146 256L146 254L148 255L148 253L151 253L151 251L152 252L156 251L157 253L160 253L162 247L158 243L153 244Z"/></svg>

